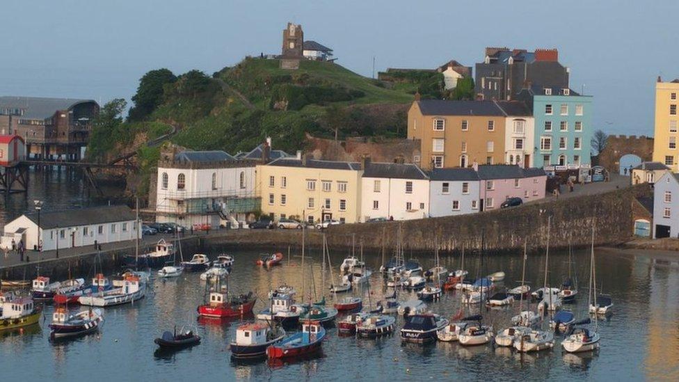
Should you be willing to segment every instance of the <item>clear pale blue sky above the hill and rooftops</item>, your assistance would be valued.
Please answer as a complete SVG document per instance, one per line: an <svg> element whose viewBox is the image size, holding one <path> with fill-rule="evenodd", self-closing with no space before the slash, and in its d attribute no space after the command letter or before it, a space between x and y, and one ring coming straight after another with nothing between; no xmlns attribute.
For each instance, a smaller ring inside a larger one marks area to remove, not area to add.
<svg viewBox="0 0 679 382"><path fill-rule="evenodd" d="M0 95L129 100L148 70L208 74L280 51L288 21L370 76L473 66L486 46L557 47L610 133L653 134L654 83L679 77L679 1L3 0Z"/></svg>

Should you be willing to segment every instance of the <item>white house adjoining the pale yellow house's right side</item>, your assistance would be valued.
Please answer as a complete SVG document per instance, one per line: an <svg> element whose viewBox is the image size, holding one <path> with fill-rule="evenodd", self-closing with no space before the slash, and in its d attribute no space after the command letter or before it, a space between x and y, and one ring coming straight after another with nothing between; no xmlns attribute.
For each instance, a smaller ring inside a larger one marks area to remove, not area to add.
<svg viewBox="0 0 679 382"><path fill-rule="evenodd" d="M408 220L429 216L429 178L414 164L363 162L361 216Z"/></svg>

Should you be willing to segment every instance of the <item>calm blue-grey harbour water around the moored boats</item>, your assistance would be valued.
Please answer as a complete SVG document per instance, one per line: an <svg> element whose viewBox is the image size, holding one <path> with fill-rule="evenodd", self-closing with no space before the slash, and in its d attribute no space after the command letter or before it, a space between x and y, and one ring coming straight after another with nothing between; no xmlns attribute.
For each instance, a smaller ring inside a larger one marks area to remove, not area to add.
<svg viewBox="0 0 679 382"><path fill-rule="evenodd" d="M333 273L347 255L346 250L333 251ZM230 277L232 292L256 291L260 297L269 289L287 283L300 290L305 274L307 298L319 298L327 287L321 286L322 274L318 250L310 250L301 269L301 258L294 253L282 266L271 270L255 266L259 253L232 250L236 257ZM210 253L215 257L217 253ZM407 255L406 255L407 257ZM433 265L433 256L420 255L424 268ZM311 260L313 259L313 260ZM367 263L378 269L381 256L366 255ZM576 317L586 315L589 275L589 251L575 252L580 295L573 305L566 305ZM550 280L560 284L568 273L568 254L550 255ZM467 255L470 276L505 271L504 285L512 287L521 277L521 255L490 257L479 270L479 258ZM442 255L448 269L459 266L459 257ZM153 280L152 292L134 305L105 309L105 323L99 335L52 344L47 324L53 308L45 308L40 326L26 328L23 333L6 333L0 337L0 369L8 381L90 381L97 380L239 380L271 379L274 381L461 379L464 381L497 380L552 381L597 380L628 381L644 379L679 380L679 262L653 257L631 257L619 253L597 251L598 284L614 301L614 315L599 321L601 349L596 353L562 353L560 340L554 349L537 354L520 355L510 349L493 346L461 347L456 343L438 342L430 346L402 345L398 333L380 340L338 337L329 329L318 357L284 365L271 365L266 360L238 364L230 360L229 342L242 321L196 319L196 307L202 303L205 284L198 273L187 273L173 280ZM543 284L543 255L529 255L527 280ZM82 275L91 276L91 275ZM329 273L328 273L328 278ZM329 283L328 280L326 282ZM312 286L312 287L310 287ZM315 290L314 290L315 289ZM372 303L385 293L381 279L374 274L369 288L362 290L365 303ZM332 301L327 292L326 297ZM301 296L301 293L298 295ZM413 299L415 294L402 292L400 299ZM266 308L259 299L255 311ZM429 304L433 312L451 317L460 307L460 294L449 292L438 302ZM478 308L477 308L478 309ZM507 326L518 310L486 310L486 322L496 331ZM472 310L473 312L474 310ZM153 343L162 331L183 324L195 324L202 342L197 347L175 353L159 353ZM398 319L399 327L402 319Z"/></svg>

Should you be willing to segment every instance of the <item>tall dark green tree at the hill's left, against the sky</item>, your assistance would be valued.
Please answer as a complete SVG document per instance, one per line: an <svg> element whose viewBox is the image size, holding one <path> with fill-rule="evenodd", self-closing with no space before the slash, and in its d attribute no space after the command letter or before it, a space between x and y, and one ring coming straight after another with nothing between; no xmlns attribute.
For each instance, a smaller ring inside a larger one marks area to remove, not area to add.
<svg viewBox="0 0 679 382"><path fill-rule="evenodd" d="M177 77L168 69L151 70L139 80L137 93L132 96L134 106L129 109L127 118L131 121L143 120L163 102L164 87L174 83Z"/></svg>

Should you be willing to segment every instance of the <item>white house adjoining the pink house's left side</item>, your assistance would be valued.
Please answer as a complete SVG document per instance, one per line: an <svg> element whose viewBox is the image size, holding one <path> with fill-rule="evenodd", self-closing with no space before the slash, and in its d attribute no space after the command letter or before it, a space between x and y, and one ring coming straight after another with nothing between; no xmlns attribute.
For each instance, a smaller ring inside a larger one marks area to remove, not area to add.
<svg viewBox="0 0 679 382"><path fill-rule="evenodd" d="M429 178L429 216L479 212L480 180L473 168L435 168Z"/></svg>

